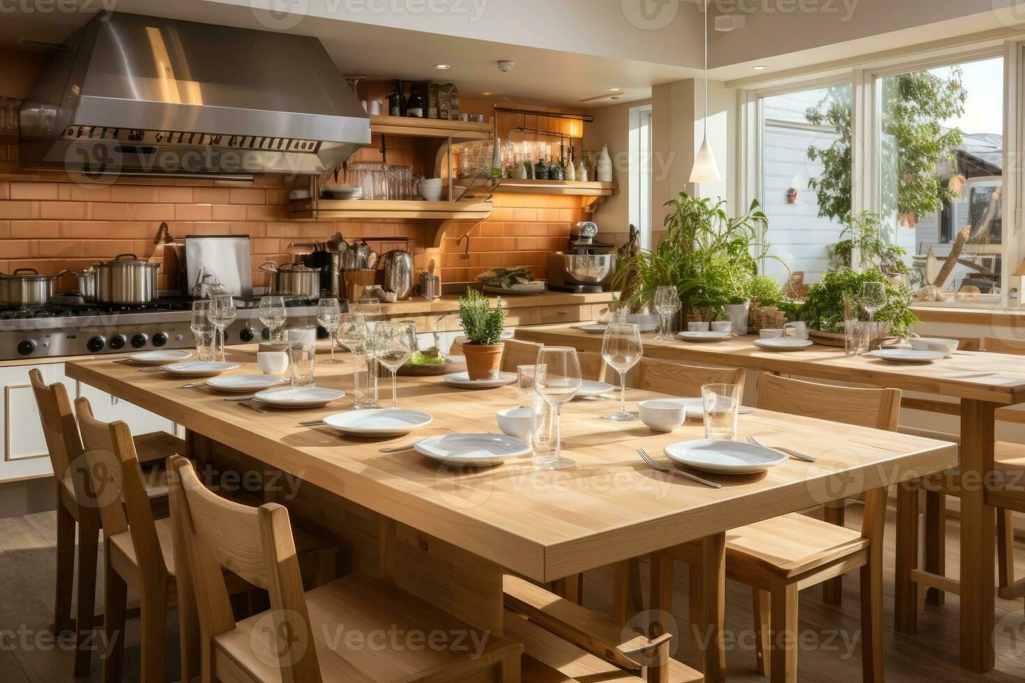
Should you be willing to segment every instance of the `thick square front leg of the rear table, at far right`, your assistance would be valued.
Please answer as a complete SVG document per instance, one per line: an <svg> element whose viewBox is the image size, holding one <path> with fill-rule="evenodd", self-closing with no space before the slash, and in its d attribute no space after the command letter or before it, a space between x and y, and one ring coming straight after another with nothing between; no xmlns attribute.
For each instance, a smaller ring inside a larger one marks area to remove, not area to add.
<svg viewBox="0 0 1025 683"><path fill-rule="evenodd" d="M979 673L993 668L994 518L986 505L993 470L995 404L961 400L960 661Z"/></svg>

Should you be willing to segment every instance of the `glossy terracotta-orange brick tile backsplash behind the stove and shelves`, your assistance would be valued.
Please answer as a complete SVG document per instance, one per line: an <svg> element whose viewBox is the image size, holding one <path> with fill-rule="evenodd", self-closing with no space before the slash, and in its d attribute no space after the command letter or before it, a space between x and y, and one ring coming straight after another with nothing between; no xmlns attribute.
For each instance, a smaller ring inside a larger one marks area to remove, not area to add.
<svg viewBox="0 0 1025 683"><path fill-rule="evenodd" d="M375 144L379 140L375 138ZM421 169L415 159L419 140L388 137L387 161ZM494 213L481 224L449 227L440 249L424 244L420 221L293 221L288 193L304 179L257 176L255 182L125 178L92 184L67 173L23 171L16 138L0 137L0 270L33 267L43 273L81 270L121 253L162 258L153 239L167 222L175 240L187 234L248 234L252 241L253 284L265 285L264 261L289 260L289 243L325 240L340 231L347 240L367 238L380 251L404 248L417 268L434 261L443 283L471 282L494 266L528 266L547 278L547 254L564 249L570 226L586 219L579 197L495 195ZM361 150L355 160L380 161L377 148ZM433 173L432 173L433 174ZM460 257L457 239L468 229L469 258ZM160 287L178 287L175 273L162 271ZM73 289L74 278L57 290Z"/></svg>

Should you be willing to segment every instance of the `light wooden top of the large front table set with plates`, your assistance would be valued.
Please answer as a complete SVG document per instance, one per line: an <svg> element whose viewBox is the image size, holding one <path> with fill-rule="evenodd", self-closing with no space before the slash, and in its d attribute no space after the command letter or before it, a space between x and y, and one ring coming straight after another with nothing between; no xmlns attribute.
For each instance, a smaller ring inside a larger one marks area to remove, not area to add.
<svg viewBox="0 0 1025 683"><path fill-rule="evenodd" d="M244 364L235 373L256 371L251 350L230 347L228 356ZM140 373L124 361L70 362L67 374L540 582L957 463L950 443L758 411L741 416L744 433L814 453L819 462L789 461L764 475L720 477L723 488L712 489L655 472L634 452L643 446L658 456L671 442L703 438L700 423L655 433L640 422L603 420L614 410L612 401L573 401L563 409L562 437L563 455L576 467L537 471L529 459L515 459L496 468L455 470L415 452L379 449L417 436L494 432L495 411L518 402L516 387L475 391L449 387L441 378L402 377L400 404L429 411L434 423L406 437L357 439L298 424L347 410L348 398L323 409L264 414L224 401L223 394L205 387L179 389L186 380ZM317 382L351 389L347 362L318 366ZM384 381L382 396L387 388ZM654 395L630 389L627 398L632 403Z"/></svg>

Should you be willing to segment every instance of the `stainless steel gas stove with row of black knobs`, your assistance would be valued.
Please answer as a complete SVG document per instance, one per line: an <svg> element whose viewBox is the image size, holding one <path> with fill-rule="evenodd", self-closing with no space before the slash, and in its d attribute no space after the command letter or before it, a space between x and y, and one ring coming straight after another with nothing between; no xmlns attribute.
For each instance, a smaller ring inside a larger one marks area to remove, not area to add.
<svg viewBox="0 0 1025 683"><path fill-rule="evenodd" d="M35 308L0 309L0 361L15 358L101 355L153 348L192 348L191 297L161 297L139 305L106 305L55 295ZM270 338L259 322L259 297L236 297L238 317L227 330L228 344ZM315 327L316 300L287 301L288 327ZM323 334L322 330L318 330Z"/></svg>

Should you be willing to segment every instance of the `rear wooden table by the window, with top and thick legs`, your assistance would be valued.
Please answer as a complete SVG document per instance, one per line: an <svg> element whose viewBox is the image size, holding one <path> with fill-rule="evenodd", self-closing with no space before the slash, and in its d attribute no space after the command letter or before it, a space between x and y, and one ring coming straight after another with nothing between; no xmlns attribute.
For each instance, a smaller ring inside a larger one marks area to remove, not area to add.
<svg viewBox="0 0 1025 683"><path fill-rule="evenodd" d="M516 334L519 339L573 346L581 351L601 351L602 347L602 335L588 334L578 325L520 328ZM985 485L966 486L960 494L960 661L980 673L991 670L995 528L993 509L988 503L999 495L989 476L994 467L994 425L1000 407L1025 401L1025 356L954 351L949 358L929 365L897 365L867 356L849 356L842 347L820 344L799 351L769 351L755 346L753 340L752 336L740 336L715 343L656 341L653 334L647 333L644 352L649 357L681 362L744 368L959 399L961 480L985 482ZM898 497L901 512L898 547L915 546L916 492L901 487ZM911 580L911 567L899 563L898 631L915 630L917 591L917 584Z"/></svg>

